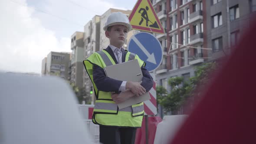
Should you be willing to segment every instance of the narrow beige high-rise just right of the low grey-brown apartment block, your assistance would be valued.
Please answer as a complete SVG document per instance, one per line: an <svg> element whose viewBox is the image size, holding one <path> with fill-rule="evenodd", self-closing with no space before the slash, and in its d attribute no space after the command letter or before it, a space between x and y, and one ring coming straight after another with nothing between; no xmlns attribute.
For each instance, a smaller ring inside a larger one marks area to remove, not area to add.
<svg viewBox="0 0 256 144"><path fill-rule="evenodd" d="M83 60L84 60L84 41L83 32L75 32L71 36L71 62L70 68L70 82L74 83L79 88L83 87Z"/></svg>

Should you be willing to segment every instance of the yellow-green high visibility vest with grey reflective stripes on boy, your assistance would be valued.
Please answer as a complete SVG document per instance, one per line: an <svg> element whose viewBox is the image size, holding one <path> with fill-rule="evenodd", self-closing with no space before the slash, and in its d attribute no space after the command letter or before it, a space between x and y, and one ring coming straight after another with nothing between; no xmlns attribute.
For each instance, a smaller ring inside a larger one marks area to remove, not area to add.
<svg viewBox="0 0 256 144"><path fill-rule="evenodd" d="M127 52L125 55L125 62L133 59L138 59L140 67L145 66L145 62L139 59L137 55ZM86 72L88 73L95 92L96 101L93 110L92 121L94 124L115 126L115 127L141 127L144 116L143 102L132 105L127 108L118 109L118 105L111 98L111 92L99 91L93 81L93 65L98 65L102 69L109 65L115 65L114 59L105 51L93 53L83 61Z"/></svg>

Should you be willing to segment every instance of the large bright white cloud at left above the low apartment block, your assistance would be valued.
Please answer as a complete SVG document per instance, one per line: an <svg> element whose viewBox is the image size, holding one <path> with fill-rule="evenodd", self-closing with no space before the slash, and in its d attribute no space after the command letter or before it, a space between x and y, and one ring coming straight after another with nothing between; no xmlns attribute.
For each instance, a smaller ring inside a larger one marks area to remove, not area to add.
<svg viewBox="0 0 256 144"><path fill-rule="evenodd" d="M50 51L71 52L70 39L57 39L55 32L31 17L35 12L25 0L0 1L0 70L41 72L42 59Z"/></svg>

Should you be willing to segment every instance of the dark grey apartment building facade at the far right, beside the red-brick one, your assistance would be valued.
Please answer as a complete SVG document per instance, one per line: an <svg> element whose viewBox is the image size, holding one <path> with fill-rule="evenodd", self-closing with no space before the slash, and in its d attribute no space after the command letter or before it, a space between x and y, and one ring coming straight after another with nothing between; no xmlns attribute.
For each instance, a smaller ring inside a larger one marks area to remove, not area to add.
<svg viewBox="0 0 256 144"><path fill-rule="evenodd" d="M212 48L208 51L209 60L217 60L232 52L255 16L256 0L228 0L228 4L229 15L227 0L209 0L206 3L207 44Z"/></svg>

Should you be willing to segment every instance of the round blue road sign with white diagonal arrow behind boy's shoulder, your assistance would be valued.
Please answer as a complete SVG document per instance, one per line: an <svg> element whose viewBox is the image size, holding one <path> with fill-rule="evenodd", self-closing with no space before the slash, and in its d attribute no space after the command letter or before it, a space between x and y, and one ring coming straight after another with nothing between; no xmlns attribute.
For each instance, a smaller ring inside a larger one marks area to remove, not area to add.
<svg viewBox="0 0 256 144"><path fill-rule="evenodd" d="M128 51L137 54L146 62L146 69L153 71L162 62L163 51L158 39L150 33L140 32L131 36L128 42Z"/></svg>

